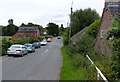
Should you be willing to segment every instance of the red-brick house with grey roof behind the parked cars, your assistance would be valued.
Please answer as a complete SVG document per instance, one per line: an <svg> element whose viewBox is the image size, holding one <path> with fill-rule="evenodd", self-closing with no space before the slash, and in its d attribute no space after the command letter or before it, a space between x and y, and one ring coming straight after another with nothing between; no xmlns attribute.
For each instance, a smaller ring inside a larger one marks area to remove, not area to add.
<svg viewBox="0 0 120 82"><path fill-rule="evenodd" d="M40 30L37 27L20 27L18 32L12 36L13 38L18 37L40 37Z"/></svg>

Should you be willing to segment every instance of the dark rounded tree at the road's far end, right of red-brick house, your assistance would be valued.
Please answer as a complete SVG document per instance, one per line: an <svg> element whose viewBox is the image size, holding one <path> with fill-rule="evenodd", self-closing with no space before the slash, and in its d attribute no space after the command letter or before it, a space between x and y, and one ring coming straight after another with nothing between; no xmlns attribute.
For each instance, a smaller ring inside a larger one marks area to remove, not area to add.
<svg viewBox="0 0 120 82"><path fill-rule="evenodd" d="M49 23L47 24L47 31L49 35L52 36L58 36L59 35L59 26L55 23Z"/></svg>

